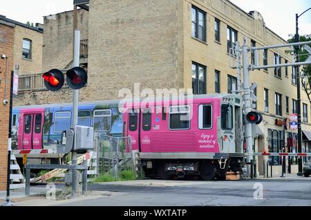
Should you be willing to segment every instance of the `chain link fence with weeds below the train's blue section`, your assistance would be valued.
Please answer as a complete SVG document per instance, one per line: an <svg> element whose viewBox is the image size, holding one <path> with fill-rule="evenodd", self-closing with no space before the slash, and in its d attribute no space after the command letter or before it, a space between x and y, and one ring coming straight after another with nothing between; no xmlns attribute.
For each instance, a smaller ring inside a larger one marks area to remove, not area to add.
<svg viewBox="0 0 311 220"><path fill-rule="evenodd" d="M120 171L131 170L134 172L131 138L113 137L96 134L97 150L97 175L111 174L118 178Z"/></svg>

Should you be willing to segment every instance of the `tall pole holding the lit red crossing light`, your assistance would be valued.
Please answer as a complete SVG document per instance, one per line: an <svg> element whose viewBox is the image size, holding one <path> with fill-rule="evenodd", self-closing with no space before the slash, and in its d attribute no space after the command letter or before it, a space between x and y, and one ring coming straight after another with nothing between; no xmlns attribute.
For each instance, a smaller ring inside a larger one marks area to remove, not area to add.
<svg viewBox="0 0 311 220"><path fill-rule="evenodd" d="M80 54L80 31L77 30L77 6L74 6L73 9L73 67L79 66L79 54ZM77 125L78 118L78 102L79 102L79 90L73 90L73 129L75 125ZM77 165L77 152L72 151L72 164L73 166ZM73 169L73 185L72 185L72 194L73 198L75 198L75 193L77 192L78 183L78 172L77 169Z"/></svg>

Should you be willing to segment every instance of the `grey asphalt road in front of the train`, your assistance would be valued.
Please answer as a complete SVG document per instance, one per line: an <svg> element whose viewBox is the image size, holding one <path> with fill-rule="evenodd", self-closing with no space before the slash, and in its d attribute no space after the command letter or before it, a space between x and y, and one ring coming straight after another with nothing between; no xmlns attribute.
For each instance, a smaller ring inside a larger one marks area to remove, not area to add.
<svg viewBox="0 0 311 220"><path fill-rule="evenodd" d="M88 190L98 196L67 201L66 205L311 205L311 178L302 176L243 181L126 181L92 184Z"/></svg>

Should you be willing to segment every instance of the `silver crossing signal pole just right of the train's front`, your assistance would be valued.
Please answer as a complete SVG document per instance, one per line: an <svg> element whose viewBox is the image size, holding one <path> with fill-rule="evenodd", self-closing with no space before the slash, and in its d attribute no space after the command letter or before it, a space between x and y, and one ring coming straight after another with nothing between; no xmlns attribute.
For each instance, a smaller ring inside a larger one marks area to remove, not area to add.
<svg viewBox="0 0 311 220"><path fill-rule="evenodd" d="M249 62L248 62L248 52L249 47L246 45L246 38L243 39L243 101L244 101L244 114L252 111L252 100L251 93L249 89ZM250 163L252 160L253 151L253 137L252 137L252 124L245 120L245 143L246 143L246 152L248 153L246 158L246 163ZM250 167L247 165L247 174L250 174Z"/></svg>

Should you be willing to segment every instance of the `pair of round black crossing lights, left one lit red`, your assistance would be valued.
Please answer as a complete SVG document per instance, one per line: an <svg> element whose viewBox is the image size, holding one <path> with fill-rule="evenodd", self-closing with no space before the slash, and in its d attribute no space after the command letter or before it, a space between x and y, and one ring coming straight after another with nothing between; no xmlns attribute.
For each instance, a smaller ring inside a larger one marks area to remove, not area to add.
<svg viewBox="0 0 311 220"><path fill-rule="evenodd" d="M44 85L50 91L58 91L64 86L64 73L56 68L42 75L44 77ZM71 89L81 89L88 81L88 74L82 67L74 67L67 71L66 82Z"/></svg>

